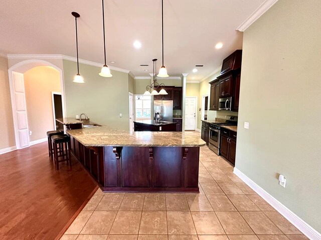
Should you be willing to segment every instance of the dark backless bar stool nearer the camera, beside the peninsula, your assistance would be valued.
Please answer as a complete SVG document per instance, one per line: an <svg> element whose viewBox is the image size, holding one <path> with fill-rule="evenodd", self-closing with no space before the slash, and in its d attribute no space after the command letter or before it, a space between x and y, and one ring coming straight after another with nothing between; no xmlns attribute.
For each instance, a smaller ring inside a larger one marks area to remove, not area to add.
<svg viewBox="0 0 321 240"><path fill-rule="evenodd" d="M64 135L53 135L51 136L51 141L53 145L54 161L56 164L56 169L59 170L59 162L67 161L68 165L71 166L71 143L70 136ZM62 159L59 160L59 157Z"/></svg>

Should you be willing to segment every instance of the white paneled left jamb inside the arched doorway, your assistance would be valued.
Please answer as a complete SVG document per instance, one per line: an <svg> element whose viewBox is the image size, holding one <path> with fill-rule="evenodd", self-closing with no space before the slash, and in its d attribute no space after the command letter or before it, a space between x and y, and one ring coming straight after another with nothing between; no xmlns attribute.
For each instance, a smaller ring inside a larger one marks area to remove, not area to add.
<svg viewBox="0 0 321 240"><path fill-rule="evenodd" d="M27 106L26 106L26 95L25 95L25 82L24 74L20 72L12 72L12 96L13 114L14 121L16 121L15 128L17 148L23 148L29 146L29 128L27 118Z"/></svg>

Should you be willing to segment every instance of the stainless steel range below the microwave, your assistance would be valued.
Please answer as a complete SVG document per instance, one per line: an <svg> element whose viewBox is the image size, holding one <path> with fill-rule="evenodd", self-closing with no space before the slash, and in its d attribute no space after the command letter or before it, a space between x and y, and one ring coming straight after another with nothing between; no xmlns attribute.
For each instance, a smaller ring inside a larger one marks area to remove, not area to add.
<svg viewBox="0 0 321 240"><path fill-rule="evenodd" d="M236 126L237 125L237 116L226 116L225 122L213 122L210 123L210 132L209 132L209 148L214 151L216 154L220 155L220 140L221 140L221 126Z"/></svg>

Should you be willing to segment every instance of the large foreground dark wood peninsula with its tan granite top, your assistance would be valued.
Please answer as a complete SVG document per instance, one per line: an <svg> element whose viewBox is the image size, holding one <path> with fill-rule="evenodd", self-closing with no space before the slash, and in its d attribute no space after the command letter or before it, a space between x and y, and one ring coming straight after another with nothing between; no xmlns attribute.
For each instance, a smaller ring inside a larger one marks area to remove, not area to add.
<svg viewBox="0 0 321 240"><path fill-rule="evenodd" d="M199 192L193 133L70 129L71 150L103 191Z"/></svg>

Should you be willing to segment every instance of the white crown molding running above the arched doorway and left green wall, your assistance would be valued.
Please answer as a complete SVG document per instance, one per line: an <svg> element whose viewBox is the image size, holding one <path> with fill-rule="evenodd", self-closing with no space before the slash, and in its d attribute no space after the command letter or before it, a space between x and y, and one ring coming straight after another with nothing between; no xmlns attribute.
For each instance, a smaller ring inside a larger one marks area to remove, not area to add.
<svg viewBox="0 0 321 240"><path fill-rule="evenodd" d="M70 60L70 61L77 61L76 57L73 56L67 56L67 55L62 55L62 54L7 54L8 59L14 59L14 58L19 58L19 59L64 59L64 60ZM92 66L98 66L102 67L103 63L99 62L94 62L94 61L88 61L85 59L79 58L79 62L87 65L92 65ZM120 67L115 67L115 66L110 66L108 67L111 70L115 71L121 71L129 74L129 70L120 68Z"/></svg>

